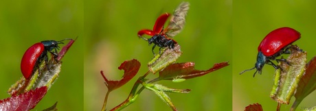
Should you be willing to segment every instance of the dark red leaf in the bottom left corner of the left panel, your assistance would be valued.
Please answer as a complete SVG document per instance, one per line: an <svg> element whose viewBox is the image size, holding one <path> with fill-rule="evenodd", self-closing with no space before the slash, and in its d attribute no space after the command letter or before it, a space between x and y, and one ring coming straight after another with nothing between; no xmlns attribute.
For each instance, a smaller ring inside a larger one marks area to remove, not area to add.
<svg viewBox="0 0 316 111"><path fill-rule="evenodd" d="M41 101L47 92L47 87L36 88L21 95L13 95L0 100L0 110L31 110Z"/></svg>

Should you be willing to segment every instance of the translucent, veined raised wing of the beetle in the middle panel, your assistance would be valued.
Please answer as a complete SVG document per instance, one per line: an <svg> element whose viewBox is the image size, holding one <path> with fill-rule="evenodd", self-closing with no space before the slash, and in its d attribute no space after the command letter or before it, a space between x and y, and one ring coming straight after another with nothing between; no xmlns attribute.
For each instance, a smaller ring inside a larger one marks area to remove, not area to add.
<svg viewBox="0 0 316 111"><path fill-rule="evenodd" d="M185 16L188 13L190 3L182 2L170 18L170 22L163 31L170 38L179 34L185 25Z"/></svg>

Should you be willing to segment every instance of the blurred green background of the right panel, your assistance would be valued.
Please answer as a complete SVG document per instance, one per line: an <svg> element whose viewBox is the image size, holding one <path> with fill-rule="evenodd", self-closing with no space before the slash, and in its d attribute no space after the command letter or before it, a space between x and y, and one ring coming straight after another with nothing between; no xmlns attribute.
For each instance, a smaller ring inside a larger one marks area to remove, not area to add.
<svg viewBox="0 0 316 111"><path fill-rule="evenodd" d="M237 0L233 4L233 109L243 110L253 103L260 103L264 110L275 110L277 103L269 95L273 86L273 66L265 65L262 75L253 71L239 75L240 71L250 69L256 63L257 48L261 40L279 27L292 27L302 34L302 38L293 43L307 51L307 60L316 56L316 1L246 1ZM284 56L287 58L287 56ZM274 61L275 62L275 61ZM297 110L315 106L316 93L308 95ZM289 110L282 105L281 110Z"/></svg>

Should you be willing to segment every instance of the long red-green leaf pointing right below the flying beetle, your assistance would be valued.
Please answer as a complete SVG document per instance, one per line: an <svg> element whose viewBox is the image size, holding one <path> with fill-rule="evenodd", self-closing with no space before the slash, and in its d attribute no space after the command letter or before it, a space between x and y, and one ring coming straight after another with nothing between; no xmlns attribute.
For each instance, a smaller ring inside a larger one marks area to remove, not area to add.
<svg viewBox="0 0 316 111"><path fill-rule="evenodd" d="M194 69L193 62L175 63L175 64L170 64L169 66L166 67L166 69L163 69L163 71L160 71L159 78L170 79L170 80L174 78L190 79L190 78L205 75L207 73L211 73L212 71L216 71L228 65L229 65L228 62L221 62L221 63L214 64L214 66L209 70L200 71L200 70Z"/></svg>

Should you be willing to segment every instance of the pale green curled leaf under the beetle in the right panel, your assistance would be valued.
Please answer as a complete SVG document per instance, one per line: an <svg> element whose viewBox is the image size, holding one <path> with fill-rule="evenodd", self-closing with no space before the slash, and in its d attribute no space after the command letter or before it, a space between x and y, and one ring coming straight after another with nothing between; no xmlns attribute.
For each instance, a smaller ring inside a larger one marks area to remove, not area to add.
<svg viewBox="0 0 316 111"><path fill-rule="evenodd" d="M300 79L302 78L306 65L306 52L300 51L299 47L291 47L291 55L285 62L280 62L282 68L275 71L274 85L270 97L279 103L289 104L291 97L294 95Z"/></svg>

